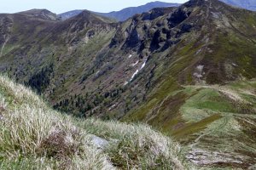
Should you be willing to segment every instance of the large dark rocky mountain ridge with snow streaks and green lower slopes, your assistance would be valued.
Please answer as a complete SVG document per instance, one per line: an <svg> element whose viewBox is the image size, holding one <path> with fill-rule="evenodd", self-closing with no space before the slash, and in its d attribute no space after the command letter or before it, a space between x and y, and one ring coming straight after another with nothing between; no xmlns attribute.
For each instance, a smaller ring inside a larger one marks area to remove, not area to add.
<svg viewBox="0 0 256 170"><path fill-rule="evenodd" d="M55 110L145 122L212 168L256 163L256 13L217 0L124 22L0 15L0 71Z"/></svg>

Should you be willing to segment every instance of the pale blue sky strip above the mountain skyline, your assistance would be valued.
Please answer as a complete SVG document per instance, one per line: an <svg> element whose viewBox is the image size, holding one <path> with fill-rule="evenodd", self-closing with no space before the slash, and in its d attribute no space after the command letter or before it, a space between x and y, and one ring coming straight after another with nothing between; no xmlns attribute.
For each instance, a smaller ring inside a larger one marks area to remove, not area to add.
<svg viewBox="0 0 256 170"><path fill-rule="evenodd" d="M88 9L96 12L110 12L133 7L154 0L0 0L0 13L15 13L32 8L47 8L60 14L73 9ZM168 3L184 3L187 0L162 0Z"/></svg>

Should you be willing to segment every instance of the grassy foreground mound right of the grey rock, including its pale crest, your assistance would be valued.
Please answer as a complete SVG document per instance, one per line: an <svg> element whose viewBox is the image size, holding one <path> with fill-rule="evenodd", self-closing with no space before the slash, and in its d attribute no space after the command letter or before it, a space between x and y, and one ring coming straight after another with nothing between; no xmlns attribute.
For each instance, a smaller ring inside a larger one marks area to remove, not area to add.
<svg viewBox="0 0 256 170"><path fill-rule="evenodd" d="M80 122L88 132L110 141L104 150L113 166L120 169L189 169L183 151L172 139L142 124Z"/></svg>

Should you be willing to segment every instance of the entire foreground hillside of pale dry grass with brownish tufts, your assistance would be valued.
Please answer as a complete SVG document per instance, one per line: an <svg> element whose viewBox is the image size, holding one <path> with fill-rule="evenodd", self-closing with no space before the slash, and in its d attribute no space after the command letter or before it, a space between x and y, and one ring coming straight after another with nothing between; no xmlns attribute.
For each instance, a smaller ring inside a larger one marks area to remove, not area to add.
<svg viewBox="0 0 256 170"><path fill-rule="evenodd" d="M0 77L0 169L187 168L179 145L148 126L64 116Z"/></svg>

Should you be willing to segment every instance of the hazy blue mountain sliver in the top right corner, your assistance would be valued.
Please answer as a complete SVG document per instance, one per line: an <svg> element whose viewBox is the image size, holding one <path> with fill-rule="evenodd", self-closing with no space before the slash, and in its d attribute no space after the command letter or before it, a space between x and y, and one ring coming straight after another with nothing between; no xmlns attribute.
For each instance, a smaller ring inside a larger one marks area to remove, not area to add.
<svg viewBox="0 0 256 170"><path fill-rule="evenodd" d="M247 8L248 10L256 11L256 2L254 0L221 0L224 3L228 3L230 5Z"/></svg>

